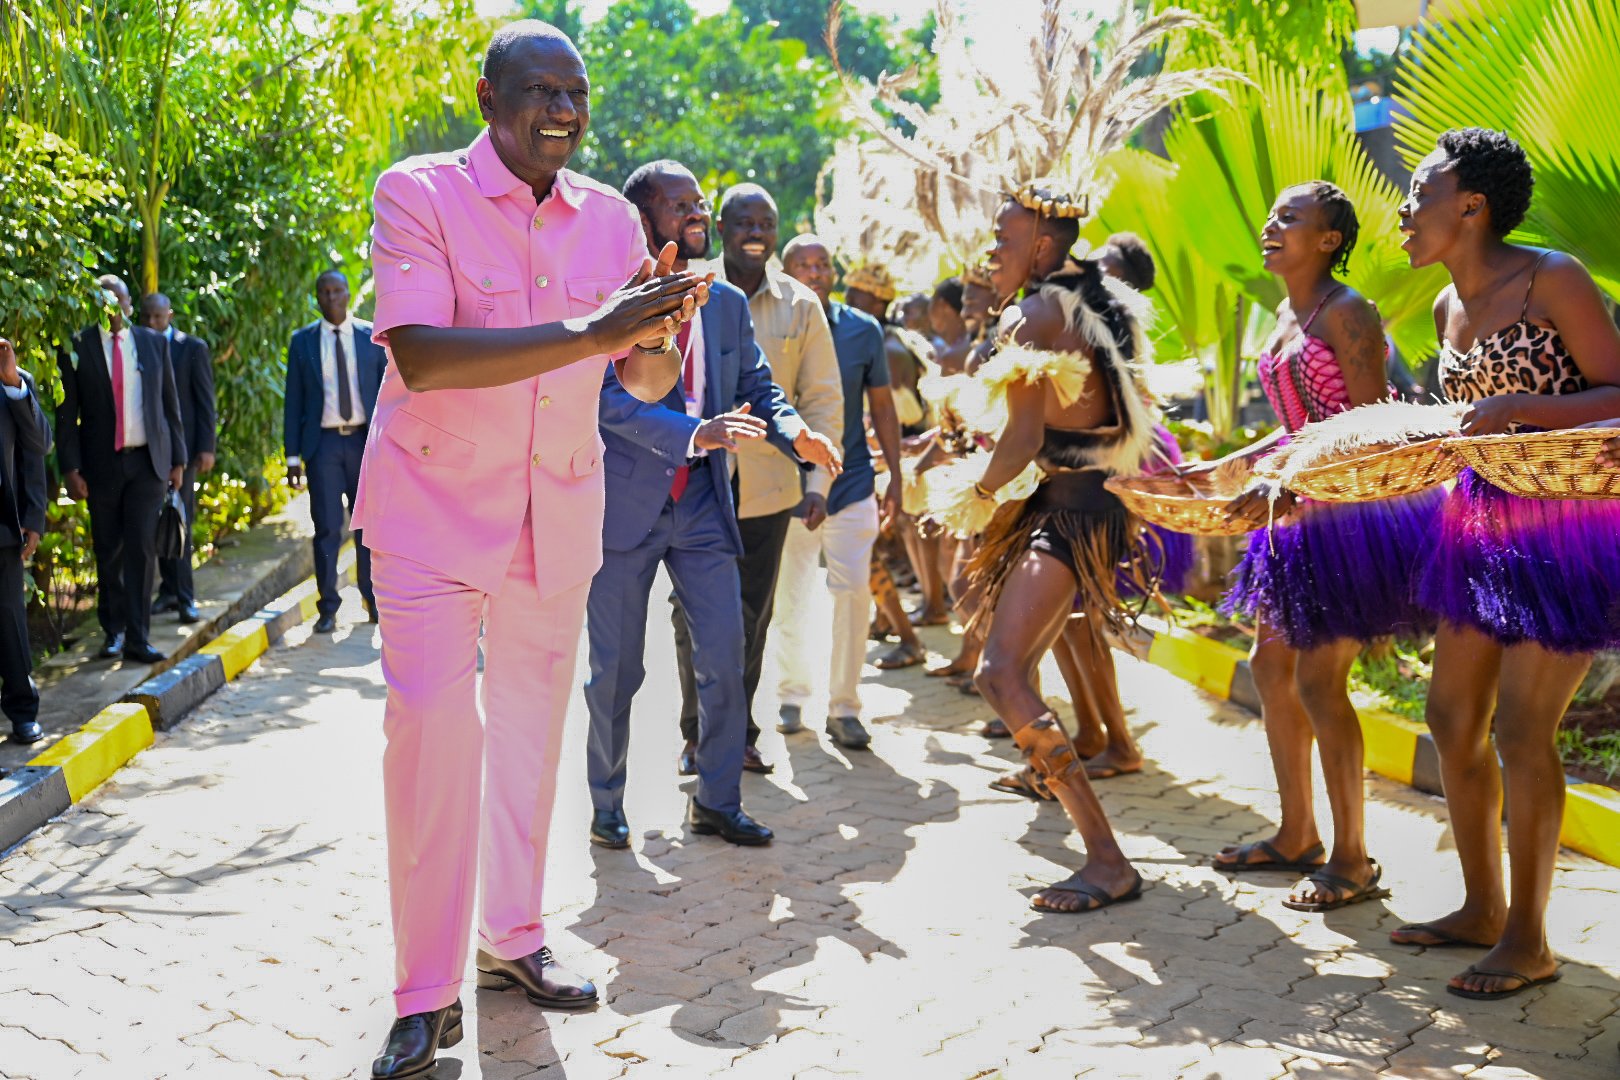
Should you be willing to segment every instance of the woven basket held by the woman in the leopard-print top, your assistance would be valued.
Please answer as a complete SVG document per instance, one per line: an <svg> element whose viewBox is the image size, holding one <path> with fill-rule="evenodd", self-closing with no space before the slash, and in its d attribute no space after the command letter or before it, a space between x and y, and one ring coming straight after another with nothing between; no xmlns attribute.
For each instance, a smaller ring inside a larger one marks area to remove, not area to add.
<svg viewBox="0 0 1620 1080"><path fill-rule="evenodd" d="M1526 499L1620 499L1620 470L1594 461L1620 427L1576 427L1520 436L1448 439L1482 478Z"/></svg>

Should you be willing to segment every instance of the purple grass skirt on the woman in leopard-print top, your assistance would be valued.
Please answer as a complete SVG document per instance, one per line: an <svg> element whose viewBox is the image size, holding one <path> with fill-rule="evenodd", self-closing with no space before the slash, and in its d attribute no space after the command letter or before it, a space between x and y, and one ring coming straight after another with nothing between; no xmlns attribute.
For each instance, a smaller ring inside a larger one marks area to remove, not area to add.
<svg viewBox="0 0 1620 1080"><path fill-rule="evenodd" d="M1620 499L1523 499L1464 470L1418 601L1502 644L1620 648Z"/></svg>

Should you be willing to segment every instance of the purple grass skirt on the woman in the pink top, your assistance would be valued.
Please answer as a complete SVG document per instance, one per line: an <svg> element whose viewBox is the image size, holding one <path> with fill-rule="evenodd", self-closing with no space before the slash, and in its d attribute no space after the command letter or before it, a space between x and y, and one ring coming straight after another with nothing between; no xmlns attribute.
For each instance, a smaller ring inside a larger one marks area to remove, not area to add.
<svg viewBox="0 0 1620 1080"><path fill-rule="evenodd" d="M1249 538L1220 610L1275 627L1296 649L1434 627L1414 581L1434 552L1445 491L1377 502L1309 502Z"/></svg>

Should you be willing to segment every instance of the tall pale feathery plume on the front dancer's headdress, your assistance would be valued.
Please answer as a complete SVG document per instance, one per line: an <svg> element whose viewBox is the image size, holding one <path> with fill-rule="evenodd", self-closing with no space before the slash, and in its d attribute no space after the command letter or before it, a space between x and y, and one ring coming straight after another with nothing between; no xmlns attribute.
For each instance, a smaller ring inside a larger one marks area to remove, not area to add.
<svg viewBox="0 0 1620 1080"><path fill-rule="evenodd" d="M1074 215L1063 204L1095 212L1106 196L1097 164L1137 126L1189 94L1243 79L1228 68L1132 78L1137 62L1170 37L1213 32L1181 8L1142 18L1131 0L1121 0L1103 34L1102 21L1074 18L1064 0L1008 0L1004 6L998 24L1027 26L1025 49L998 40L975 53L951 2L936 0L933 50L941 86L932 110L901 97L917 86L915 70L883 73L875 84L850 78L838 58L841 0L828 11L828 50L849 113L914 164L914 209L946 244L961 246L962 225L970 236L988 236L1001 201L1022 194L1021 202L1030 206L1034 186L1048 189L1037 204L1043 212L1051 196L1058 196L1056 214ZM909 123L912 134L876 105ZM953 254L967 266L977 253L953 248Z"/></svg>

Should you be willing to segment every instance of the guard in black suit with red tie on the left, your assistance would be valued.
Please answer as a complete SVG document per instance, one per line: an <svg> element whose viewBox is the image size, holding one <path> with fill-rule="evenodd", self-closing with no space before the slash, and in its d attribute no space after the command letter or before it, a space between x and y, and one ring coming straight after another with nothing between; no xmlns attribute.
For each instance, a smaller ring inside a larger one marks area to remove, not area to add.
<svg viewBox="0 0 1620 1080"><path fill-rule="evenodd" d="M130 288L120 279L109 274L100 285L118 313L105 330L81 330L60 361L57 463L68 494L91 504L102 656L156 664L164 654L147 630L157 512L185 479L186 439L168 342L130 324Z"/></svg>

